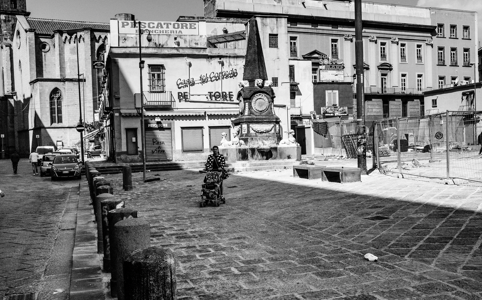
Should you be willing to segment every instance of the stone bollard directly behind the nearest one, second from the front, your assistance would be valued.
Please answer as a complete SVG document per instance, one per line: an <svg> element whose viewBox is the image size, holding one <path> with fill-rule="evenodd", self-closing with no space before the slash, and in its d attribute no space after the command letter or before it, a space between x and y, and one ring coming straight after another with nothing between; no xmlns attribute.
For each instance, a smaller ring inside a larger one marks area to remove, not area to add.
<svg viewBox="0 0 482 300"><path fill-rule="evenodd" d="M117 270L117 299L124 300L123 262L134 250L150 247L149 222L144 218L125 219L114 225L114 261Z"/></svg>

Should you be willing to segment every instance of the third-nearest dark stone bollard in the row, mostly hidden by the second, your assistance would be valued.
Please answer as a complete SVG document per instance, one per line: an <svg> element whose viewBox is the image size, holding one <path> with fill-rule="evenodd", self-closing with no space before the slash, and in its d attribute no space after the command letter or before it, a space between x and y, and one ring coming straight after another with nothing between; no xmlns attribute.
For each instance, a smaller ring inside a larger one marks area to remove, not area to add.
<svg viewBox="0 0 482 300"><path fill-rule="evenodd" d="M117 297L117 270L116 252L114 251L114 225L124 219L137 218L137 210L134 209L112 209L107 212L109 223L109 252L110 252L110 296Z"/></svg>

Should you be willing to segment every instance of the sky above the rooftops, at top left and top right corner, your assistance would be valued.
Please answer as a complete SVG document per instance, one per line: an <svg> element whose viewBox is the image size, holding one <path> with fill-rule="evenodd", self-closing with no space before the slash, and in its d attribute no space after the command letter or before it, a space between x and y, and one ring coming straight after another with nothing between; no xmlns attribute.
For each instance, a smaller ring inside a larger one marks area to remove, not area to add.
<svg viewBox="0 0 482 300"><path fill-rule="evenodd" d="M477 11L482 0L371 0L370 2ZM81 4L81 5L80 5ZM132 13L138 20L175 21L178 16L203 16L202 0L27 0L33 18L108 23L116 13ZM479 20L482 42L482 21Z"/></svg>

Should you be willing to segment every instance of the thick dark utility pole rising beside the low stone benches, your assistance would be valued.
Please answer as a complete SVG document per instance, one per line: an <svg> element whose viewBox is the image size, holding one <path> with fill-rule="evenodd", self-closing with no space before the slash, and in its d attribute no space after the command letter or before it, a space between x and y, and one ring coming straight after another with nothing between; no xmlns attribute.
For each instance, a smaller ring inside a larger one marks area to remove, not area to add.
<svg viewBox="0 0 482 300"><path fill-rule="evenodd" d="M363 113L363 25L362 25L362 0L355 0L355 62L357 75L357 128L358 144L357 159L358 168L362 175L366 175L366 130L365 116Z"/></svg>

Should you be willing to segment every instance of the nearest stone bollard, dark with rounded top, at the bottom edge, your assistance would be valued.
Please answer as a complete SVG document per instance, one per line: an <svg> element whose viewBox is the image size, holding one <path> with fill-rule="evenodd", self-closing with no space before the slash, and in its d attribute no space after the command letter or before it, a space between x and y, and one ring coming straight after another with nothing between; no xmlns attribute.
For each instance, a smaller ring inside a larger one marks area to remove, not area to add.
<svg viewBox="0 0 482 300"><path fill-rule="evenodd" d="M173 251L158 247L138 249L125 259L123 267L125 299L177 299Z"/></svg>

